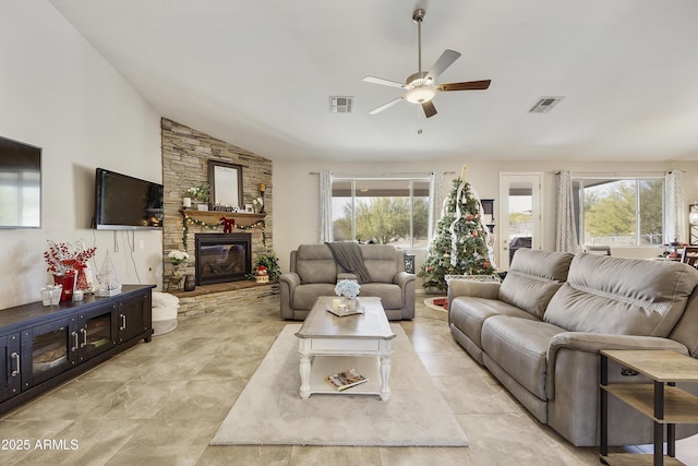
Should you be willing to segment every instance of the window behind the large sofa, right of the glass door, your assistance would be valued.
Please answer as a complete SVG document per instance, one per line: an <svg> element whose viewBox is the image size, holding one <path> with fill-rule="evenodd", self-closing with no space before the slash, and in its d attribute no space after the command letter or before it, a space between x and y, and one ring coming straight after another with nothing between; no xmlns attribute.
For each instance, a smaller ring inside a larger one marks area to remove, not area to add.
<svg viewBox="0 0 698 466"><path fill-rule="evenodd" d="M582 244L662 244L663 178L574 179L573 189Z"/></svg>

